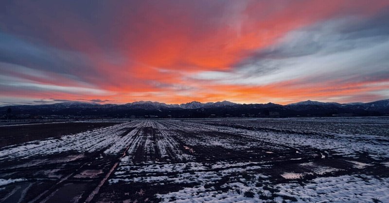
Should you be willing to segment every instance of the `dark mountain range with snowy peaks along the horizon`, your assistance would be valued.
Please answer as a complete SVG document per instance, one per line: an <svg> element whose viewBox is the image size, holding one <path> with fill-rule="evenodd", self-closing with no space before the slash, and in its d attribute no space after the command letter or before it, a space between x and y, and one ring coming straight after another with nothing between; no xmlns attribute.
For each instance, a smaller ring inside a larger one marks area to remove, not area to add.
<svg viewBox="0 0 389 203"><path fill-rule="evenodd" d="M137 101L123 105L87 102L62 102L49 105L19 105L0 107L0 114L29 115L78 115L144 117L293 117L293 116L385 116L389 115L389 99L369 103L301 101L288 105L237 104L229 101L185 104L165 104L151 101Z"/></svg>

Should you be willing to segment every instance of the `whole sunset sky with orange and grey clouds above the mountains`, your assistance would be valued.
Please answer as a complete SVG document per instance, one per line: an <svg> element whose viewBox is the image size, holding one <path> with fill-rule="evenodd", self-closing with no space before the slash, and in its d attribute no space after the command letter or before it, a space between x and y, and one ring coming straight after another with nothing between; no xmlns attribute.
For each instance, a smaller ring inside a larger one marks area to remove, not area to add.
<svg viewBox="0 0 389 203"><path fill-rule="evenodd" d="M1 0L0 105L389 98L389 0Z"/></svg>

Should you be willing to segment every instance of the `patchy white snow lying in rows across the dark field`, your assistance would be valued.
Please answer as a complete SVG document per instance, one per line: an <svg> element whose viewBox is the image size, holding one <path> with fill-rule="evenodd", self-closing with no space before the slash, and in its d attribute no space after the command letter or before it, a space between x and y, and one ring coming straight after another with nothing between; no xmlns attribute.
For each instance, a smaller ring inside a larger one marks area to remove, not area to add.
<svg viewBox="0 0 389 203"><path fill-rule="evenodd" d="M76 161L85 158L88 152L96 151L99 152L97 159L104 158L123 154L127 149L126 156L109 176L109 184L147 183L151 187L182 185L176 191L157 194L162 202L258 202L263 195L274 195L278 202L283 202L286 197L296 198L299 203L372 202L373 198L389 202L389 179L363 175L363 170L372 168L369 166L389 167L388 122L358 119L352 118L347 122L338 118L312 118L309 121L303 118L251 119L249 122L232 119L142 120L66 135L60 139L3 147L0 148L0 161L35 158L8 168L13 169ZM248 141L241 141L245 139ZM312 152L316 153L315 159L302 163L306 160L306 147L318 150ZM225 157L218 159L216 155L202 162L204 159L199 159L199 155L204 153L201 149L226 154L240 150L249 156L243 161ZM289 149L293 157L288 157L287 153L275 156L285 149ZM73 151L78 155L61 156L63 158L57 160L45 157ZM342 159L348 161L349 166L359 169L361 175L336 176L339 173L335 172L344 171L324 164L327 159L330 161L334 152L343 156ZM355 157L361 152L376 161L360 162L361 159ZM251 154L259 156L250 162ZM262 158L273 156L294 160L302 171L288 169L274 177L267 176L262 170L271 170L273 160L263 161ZM248 175L244 176L243 173ZM82 171L74 177L96 177L99 174L101 171ZM309 175L317 178L304 183L299 181ZM285 183L273 184L271 178ZM19 181L27 180L0 179L0 186ZM223 184L223 191L220 187L212 186L216 183ZM270 191L269 187L276 191ZM253 192L253 198L245 195L248 191Z"/></svg>

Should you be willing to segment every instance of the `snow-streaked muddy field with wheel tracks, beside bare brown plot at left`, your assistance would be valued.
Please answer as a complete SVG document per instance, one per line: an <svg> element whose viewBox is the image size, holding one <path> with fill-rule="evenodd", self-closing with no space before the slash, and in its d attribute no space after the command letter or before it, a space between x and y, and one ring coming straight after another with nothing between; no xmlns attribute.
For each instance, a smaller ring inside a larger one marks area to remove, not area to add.
<svg viewBox="0 0 389 203"><path fill-rule="evenodd" d="M0 148L1 202L389 202L389 118L159 120Z"/></svg>

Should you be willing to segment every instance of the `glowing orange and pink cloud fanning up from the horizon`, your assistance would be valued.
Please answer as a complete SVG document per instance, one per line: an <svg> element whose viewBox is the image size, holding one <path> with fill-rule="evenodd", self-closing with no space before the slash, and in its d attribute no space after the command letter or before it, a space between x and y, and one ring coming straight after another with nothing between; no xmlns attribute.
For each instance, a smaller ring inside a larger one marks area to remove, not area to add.
<svg viewBox="0 0 389 203"><path fill-rule="evenodd" d="M103 90L109 94L99 95L99 99L119 103L231 100L285 104L388 88L386 80L326 81L301 86L304 78L298 78L259 86L217 84L186 77L202 71L231 72L237 63L277 44L290 31L341 16L367 18L387 6L389 2L385 0L374 3L365 0L112 3L96 5L102 9L98 10L101 13L87 14L71 6L53 6L50 12L38 5L19 5L18 9L22 8L24 13L21 21L47 31L32 31L32 38L47 46L79 53L90 69L73 68L66 74L50 73L51 78L24 73L13 73L13 76L39 84ZM51 15L52 12L56 15ZM12 92L0 92L32 98L96 98L92 94L44 89L15 88Z"/></svg>

